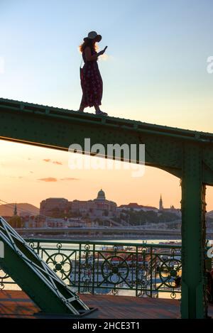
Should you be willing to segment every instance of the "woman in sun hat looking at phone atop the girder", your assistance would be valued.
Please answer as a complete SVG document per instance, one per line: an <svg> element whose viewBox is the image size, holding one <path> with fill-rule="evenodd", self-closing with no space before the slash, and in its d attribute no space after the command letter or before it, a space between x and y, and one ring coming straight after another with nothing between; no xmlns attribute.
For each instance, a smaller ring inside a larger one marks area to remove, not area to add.
<svg viewBox="0 0 213 333"><path fill-rule="evenodd" d="M85 107L94 106L96 114L107 116L107 113L99 108L99 105L102 105L103 82L97 59L99 55L104 54L107 48L106 46L104 50L99 53L96 52L95 43L99 43L100 40L102 40L101 35L98 35L96 31L90 31L88 36L84 38L84 43L80 45L84 66L80 68L82 101L78 111L83 112Z"/></svg>

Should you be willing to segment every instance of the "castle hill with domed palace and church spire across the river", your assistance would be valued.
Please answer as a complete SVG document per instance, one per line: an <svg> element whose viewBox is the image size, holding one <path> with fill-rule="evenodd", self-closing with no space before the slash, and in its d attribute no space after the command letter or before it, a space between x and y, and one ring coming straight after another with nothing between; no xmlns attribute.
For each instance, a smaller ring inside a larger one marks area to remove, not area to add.
<svg viewBox="0 0 213 333"><path fill-rule="evenodd" d="M40 202L40 215L57 219L79 219L87 223L106 226L141 225L173 222L181 217L180 209L163 207L160 196L159 208L137 203L121 204L107 200L101 189L94 200L48 198Z"/></svg>

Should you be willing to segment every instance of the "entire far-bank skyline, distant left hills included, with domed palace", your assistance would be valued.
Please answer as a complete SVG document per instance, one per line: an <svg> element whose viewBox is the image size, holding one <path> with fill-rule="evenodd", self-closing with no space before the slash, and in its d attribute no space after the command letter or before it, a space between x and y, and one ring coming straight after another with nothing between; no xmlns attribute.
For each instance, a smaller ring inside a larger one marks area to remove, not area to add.
<svg viewBox="0 0 213 333"><path fill-rule="evenodd" d="M207 213L207 228L212 229L213 219L209 213ZM117 206L116 202L106 198L102 189L93 200L69 201L63 197L50 197L40 202L40 209L27 203L3 204L0 206L0 214L12 226L26 228L153 226L158 229L159 224L159 227L163 226L166 229L180 229L181 226L181 210L173 205L165 208L161 195L158 207L136 202Z"/></svg>

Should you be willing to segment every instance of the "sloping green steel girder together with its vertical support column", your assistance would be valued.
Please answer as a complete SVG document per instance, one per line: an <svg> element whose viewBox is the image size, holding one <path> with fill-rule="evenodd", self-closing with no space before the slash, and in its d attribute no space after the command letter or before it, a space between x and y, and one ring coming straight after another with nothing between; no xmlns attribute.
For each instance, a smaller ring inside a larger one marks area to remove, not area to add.
<svg viewBox="0 0 213 333"><path fill-rule="evenodd" d="M106 151L109 143L145 144L146 165L182 180L182 317L206 316L203 202L204 185L213 185L212 133L0 99L0 138L64 151L72 143L84 147L84 138Z"/></svg>

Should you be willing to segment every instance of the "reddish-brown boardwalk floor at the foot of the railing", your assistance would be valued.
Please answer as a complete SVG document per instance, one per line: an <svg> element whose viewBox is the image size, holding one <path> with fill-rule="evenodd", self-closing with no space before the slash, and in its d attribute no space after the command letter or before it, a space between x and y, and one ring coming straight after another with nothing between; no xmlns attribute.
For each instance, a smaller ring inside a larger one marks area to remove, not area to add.
<svg viewBox="0 0 213 333"><path fill-rule="evenodd" d="M88 295L81 299L97 310L84 318L104 319L177 319L180 318L180 301L132 296ZM36 318L39 308L18 290L0 290L0 318ZM213 305L209 305L213 317Z"/></svg>

